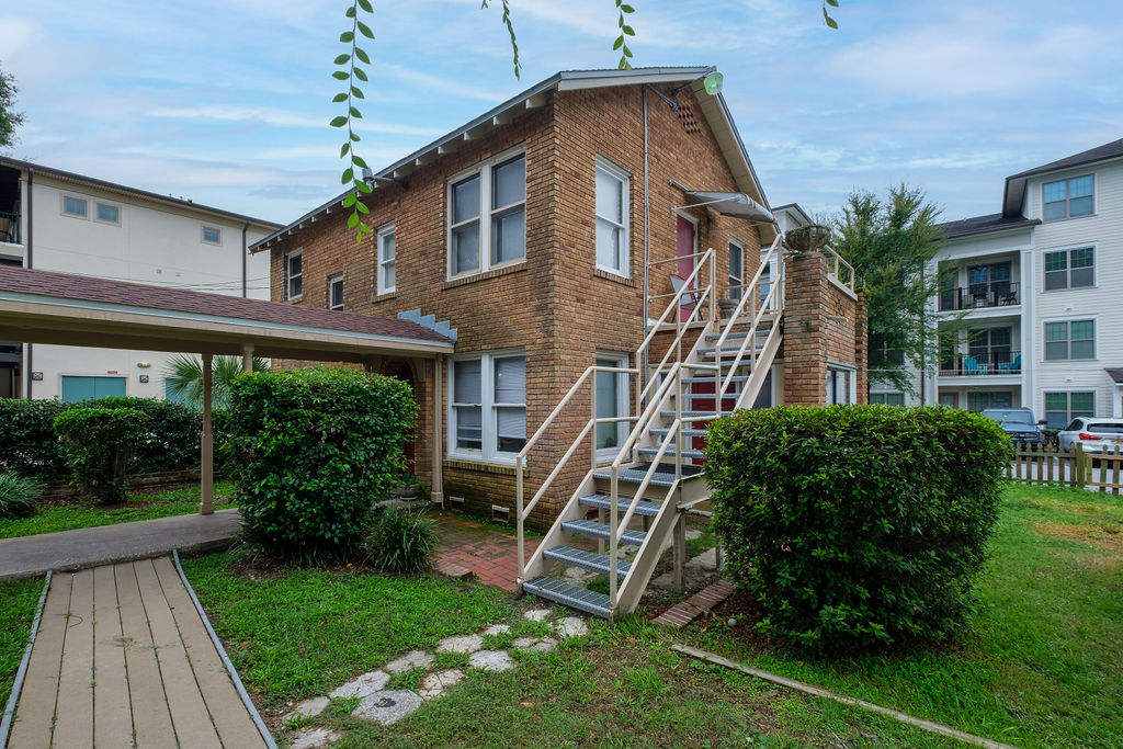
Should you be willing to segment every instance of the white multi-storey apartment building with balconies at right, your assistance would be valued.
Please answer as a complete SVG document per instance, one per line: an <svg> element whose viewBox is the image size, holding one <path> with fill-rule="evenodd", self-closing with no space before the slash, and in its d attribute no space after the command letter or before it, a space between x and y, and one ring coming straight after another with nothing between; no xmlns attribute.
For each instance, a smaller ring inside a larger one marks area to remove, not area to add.
<svg viewBox="0 0 1123 749"><path fill-rule="evenodd" d="M943 228L932 318L966 329L925 402L1021 405L1050 428L1123 417L1123 139L1008 176L1001 213Z"/></svg>

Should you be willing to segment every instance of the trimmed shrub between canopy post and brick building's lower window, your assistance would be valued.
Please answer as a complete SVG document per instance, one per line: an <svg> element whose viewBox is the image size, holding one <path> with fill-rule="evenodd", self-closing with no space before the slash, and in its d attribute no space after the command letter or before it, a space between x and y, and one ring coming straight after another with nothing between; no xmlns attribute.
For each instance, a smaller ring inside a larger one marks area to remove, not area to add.
<svg viewBox="0 0 1123 749"><path fill-rule="evenodd" d="M349 555L405 465L409 384L354 369L236 377L226 428L248 539L284 559Z"/></svg>

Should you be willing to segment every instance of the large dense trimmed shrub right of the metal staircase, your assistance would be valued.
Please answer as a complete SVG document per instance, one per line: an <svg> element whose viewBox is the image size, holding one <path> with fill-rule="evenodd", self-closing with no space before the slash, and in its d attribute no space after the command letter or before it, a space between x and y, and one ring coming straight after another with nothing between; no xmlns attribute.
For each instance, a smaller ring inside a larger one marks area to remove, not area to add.
<svg viewBox="0 0 1123 749"><path fill-rule="evenodd" d="M766 633L828 652L940 640L966 618L1012 458L995 422L757 409L715 421L705 454L728 574Z"/></svg>

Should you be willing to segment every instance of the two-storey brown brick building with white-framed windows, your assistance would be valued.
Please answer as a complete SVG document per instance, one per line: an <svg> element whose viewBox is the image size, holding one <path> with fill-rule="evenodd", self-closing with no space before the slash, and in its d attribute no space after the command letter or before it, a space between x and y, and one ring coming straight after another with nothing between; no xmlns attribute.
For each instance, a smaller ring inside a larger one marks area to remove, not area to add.
<svg viewBox="0 0 1123 749"><path fill-rule="evenodd" d="M724 99L706 91L712 72L559 73L372 175L376 230L360 244L340 197L254 246L271 253L274 300L412 313L455 336L444 364L367 364L412 381L421 410L413 457L436 500L510 511L517 454L593 365L632 369L592 375L596 415L632 419L593 428L596 454L611 460L636 422L637 389L655 376L641 373L668 347L699 348L716 325L718 296L751 294L747 312L776 286L766 317L777 328L787 296L787 360L775 351L754 359L767 376L749 404L865 392L865 310L852 282L814 253L787 261L782 286L783 248L758 273L763 253L778 246L778 223ZM637 360L672 302L673 275L692 290ZM527 455L528 496L586 426L593 398L576 393ZM582 454L530 522L548 527L562 512L586 474Z"/></svg>

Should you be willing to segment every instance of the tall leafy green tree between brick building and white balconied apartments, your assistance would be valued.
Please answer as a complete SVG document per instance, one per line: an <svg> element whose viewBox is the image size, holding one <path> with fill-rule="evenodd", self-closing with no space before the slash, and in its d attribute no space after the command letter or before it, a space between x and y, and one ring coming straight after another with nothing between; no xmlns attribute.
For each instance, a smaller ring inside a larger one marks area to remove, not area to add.
<svg viewBox="0 0 1123 749"><path fill-rule="evenodd" d="M930 265L940 249L940 210L919 188L889 188L882 201L871 192L847 197L836 220L836 249L864 278L869 304L869 381L917 392L915 373L937 362L940 337L930 303L940 283Z"/></svg>

